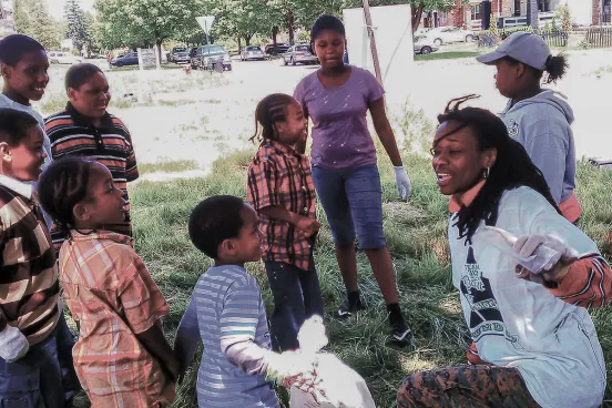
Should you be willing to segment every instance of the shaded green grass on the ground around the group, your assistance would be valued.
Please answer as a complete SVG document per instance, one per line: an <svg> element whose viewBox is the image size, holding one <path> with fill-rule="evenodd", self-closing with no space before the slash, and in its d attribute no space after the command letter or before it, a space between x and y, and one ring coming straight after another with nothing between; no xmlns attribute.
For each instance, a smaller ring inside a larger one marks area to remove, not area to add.
<svg viewBox="0 0 612 408"><path fill-rule="evenodd" d="M188 241L186 224L190 213L201 200L211 195L245 197L245 172L252 155L252 151L227 155L214 163L211 175L205 178L172 183L143 181L132 188L135 248L171 305L170 315L164 319L170 341L193 286L200 274L211 266L211 261ZM451 284L446 238L448 198L438 192L429 160L406 155L405 163L414 183L408 203L397 198L388 160L380 160L379 164L385 231L400 289L400 304L416 335L415 347L400 349L389 344L384 302L364 254L358 254L359 285L370 307L347 322L332 318L333 310L345 297L344 285L325 213L320 206L317 208L324 227L316 249L316 264L326 305L329 349L366 379L377 406L381 408L395 407L402 379L415 370L462 364L469 343L457 290ZM181 165L169 162L161 167L175 170ZM149 167L144 169L149 171ZM581 226L610 258L612 172L580 163L577 184L577 194L584 207ZM247 269L258 280L269 314L272 295L263 265L254 263ZM611 369L612 308L594 310L593 319ZM194 390L197 361L196 358L178 388L174 407L197 406ZM78 407L86 407L85 397L79 398ZM612 402L610 387L605 398Z"/></svg>

